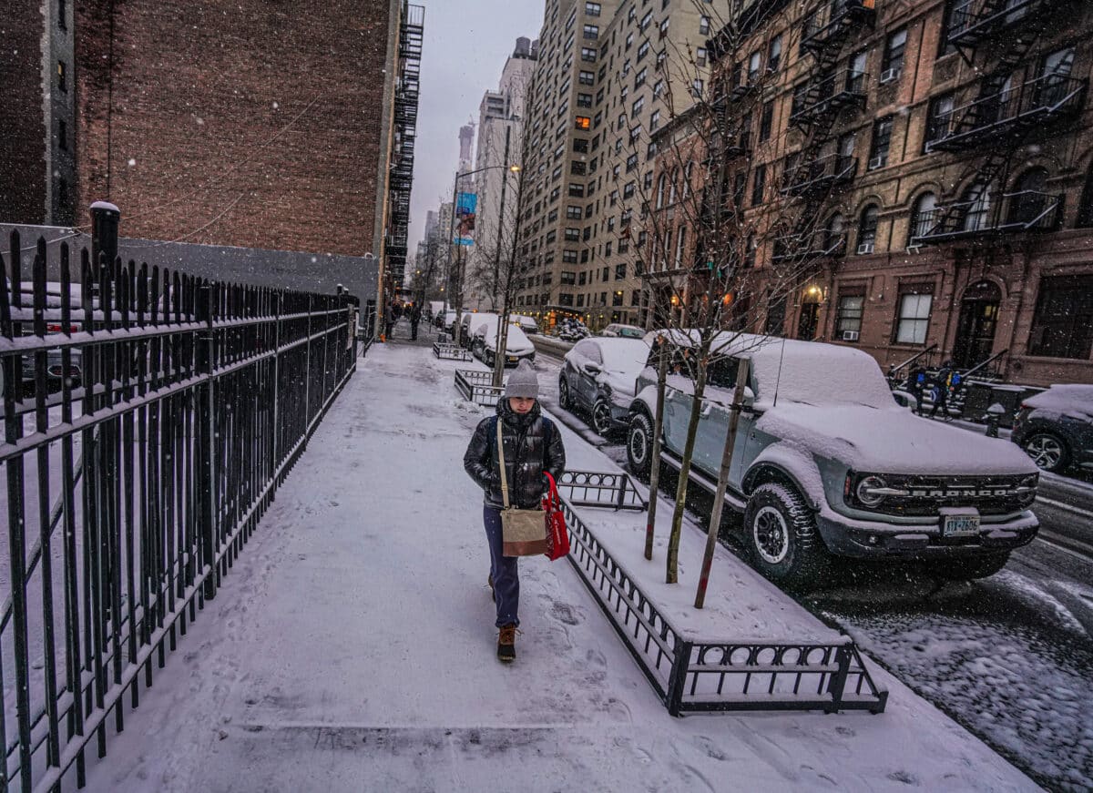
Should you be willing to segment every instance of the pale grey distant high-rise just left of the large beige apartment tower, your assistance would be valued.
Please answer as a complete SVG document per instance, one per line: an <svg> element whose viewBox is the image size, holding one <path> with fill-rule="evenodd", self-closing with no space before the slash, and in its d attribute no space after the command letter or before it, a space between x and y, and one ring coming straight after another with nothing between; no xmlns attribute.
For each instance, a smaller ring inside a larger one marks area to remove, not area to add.
<svg viewBox="0 0 1093 793"><path fill-rule="evenodd" d="M525 98L531 83L539 43L516 39L506 59L496 91L486 91L479 107L474 191L478 193L475 244L469 252L465 305L494 308L493 283L483 273L498 259L507 259L516 234L520 179L510 170L522 162Z"/></svg>

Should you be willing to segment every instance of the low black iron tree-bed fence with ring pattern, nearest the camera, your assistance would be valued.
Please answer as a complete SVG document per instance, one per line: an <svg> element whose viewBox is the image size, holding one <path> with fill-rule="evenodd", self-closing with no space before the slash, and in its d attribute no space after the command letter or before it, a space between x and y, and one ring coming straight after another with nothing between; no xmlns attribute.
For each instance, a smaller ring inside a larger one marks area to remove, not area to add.
<svg viewBox="0 0 1093 793"><path fill-rule="evenodd" d="M883 712L888 691L873 683L849 637L800 642L681 634L584 524L574 502L563 498L562 504L569 563L672 715L722 710Z"/></svg>

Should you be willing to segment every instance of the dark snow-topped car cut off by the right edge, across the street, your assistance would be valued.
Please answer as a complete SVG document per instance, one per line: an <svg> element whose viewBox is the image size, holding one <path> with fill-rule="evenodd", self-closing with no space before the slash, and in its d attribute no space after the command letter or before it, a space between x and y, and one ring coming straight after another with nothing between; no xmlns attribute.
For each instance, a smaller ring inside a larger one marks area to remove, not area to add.
<svg viewBox="0 0 1093 793"><path fill-rule="evenodd" d="M1044 471L1093 467L1093 386L1051 386L1030 397L1010 439Z"/></svg>

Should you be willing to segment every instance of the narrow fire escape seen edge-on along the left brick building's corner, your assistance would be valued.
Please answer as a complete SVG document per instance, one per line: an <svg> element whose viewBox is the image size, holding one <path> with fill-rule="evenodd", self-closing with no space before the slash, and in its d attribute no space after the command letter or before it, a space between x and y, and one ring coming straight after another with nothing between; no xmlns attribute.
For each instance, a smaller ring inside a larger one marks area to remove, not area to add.
<svg viewBox="0 0 1093 793"><path fill-rule="evenodd" d="M410 226L410 188L413 186L414 144L418 137L418 97L421 87L421 49L425 9L403 4L399 26L399 68L395 84L395 139L388 176L388 220L384 248L387 273L396 285L406 274Z"/></svg>

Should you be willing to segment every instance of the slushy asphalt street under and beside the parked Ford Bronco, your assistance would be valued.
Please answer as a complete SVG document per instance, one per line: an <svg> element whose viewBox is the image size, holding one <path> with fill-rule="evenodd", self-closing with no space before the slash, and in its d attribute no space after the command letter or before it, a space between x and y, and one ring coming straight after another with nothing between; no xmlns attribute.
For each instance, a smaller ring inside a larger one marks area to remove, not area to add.
<svg viewBox="0 0 1093 793"><path fill-rule="evenodd" d="M559 409L561 358L539 350L543 406L625 466L621 435L600 438L587 417ZM673 495L675 482L665 476L662 493ZM689 489L700 524L712 500ZM950 582L920 565L844 563L837 582L797 597L1037 782L1079 790L1093 767L1093 485L1047 474L1034 511L1039 535L991 578ZM740 528L726 510L721 542L747 556Z"/></svg>

